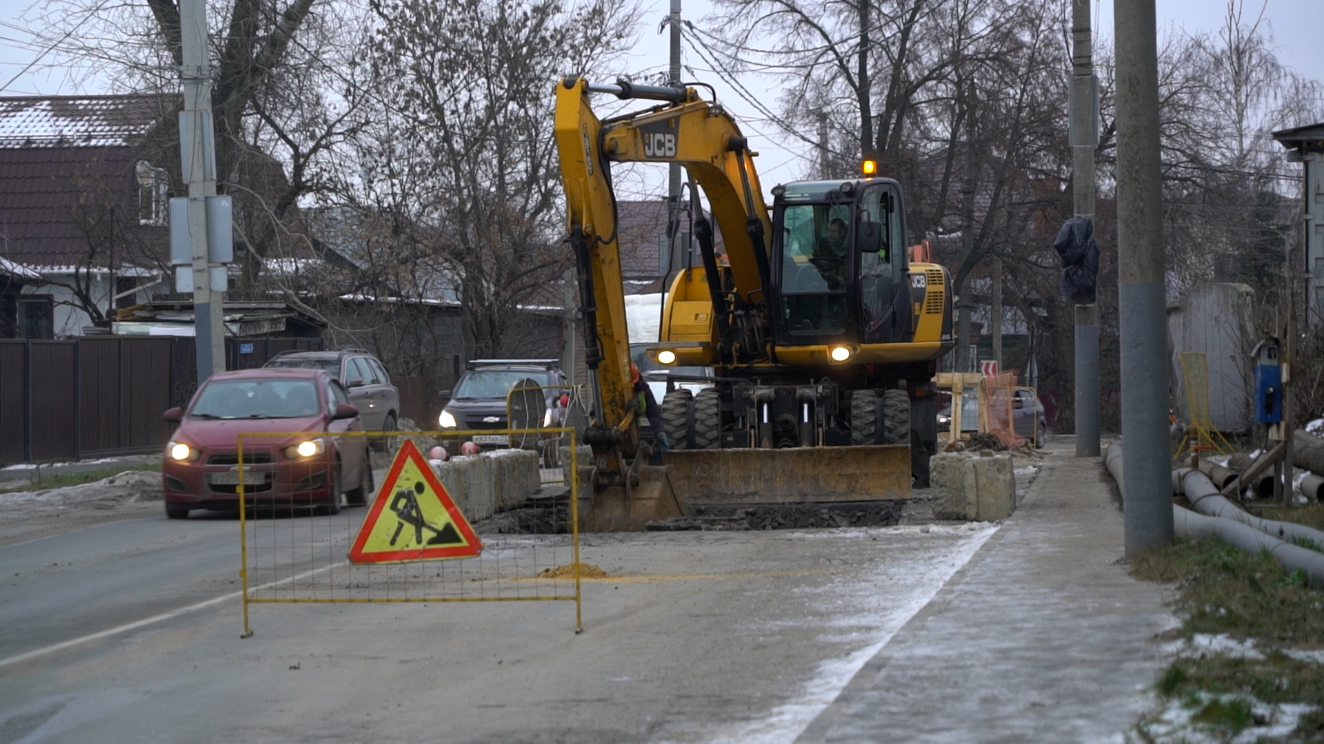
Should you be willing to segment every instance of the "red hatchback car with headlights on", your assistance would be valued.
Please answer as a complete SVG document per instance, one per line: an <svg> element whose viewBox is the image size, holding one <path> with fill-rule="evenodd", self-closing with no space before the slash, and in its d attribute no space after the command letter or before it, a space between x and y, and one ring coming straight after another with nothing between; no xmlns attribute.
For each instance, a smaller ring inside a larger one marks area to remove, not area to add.
<svg viewBox="0 0 1324 744"><path fill-rule="evenodd" d="M348 506L373 495L368 440L318 434L363 430L344 388L320 369L220 372L193 393L187 410L172 408L166 420L179 424L162 463L171 519L193 508L237 508L241 432L308 432L244 438L244 491L257 506L336 514L342 495Z"/></svg>

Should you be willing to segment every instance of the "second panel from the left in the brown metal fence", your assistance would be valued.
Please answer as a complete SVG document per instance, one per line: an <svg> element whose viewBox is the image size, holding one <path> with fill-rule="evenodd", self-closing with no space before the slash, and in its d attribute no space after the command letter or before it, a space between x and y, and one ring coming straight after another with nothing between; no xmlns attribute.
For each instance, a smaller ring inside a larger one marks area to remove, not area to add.
<svg viewBox="0 0 1324 744"><path fill-rule="evenodd" d="M28 342L28 459L78 457L78 342Z"/></svg>

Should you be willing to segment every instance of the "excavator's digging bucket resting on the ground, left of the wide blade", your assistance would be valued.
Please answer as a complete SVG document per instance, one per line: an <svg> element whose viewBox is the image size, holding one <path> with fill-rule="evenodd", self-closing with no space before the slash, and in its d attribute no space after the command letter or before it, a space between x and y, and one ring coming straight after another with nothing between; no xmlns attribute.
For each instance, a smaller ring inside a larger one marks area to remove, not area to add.
<svg viewBox="0 0 1324 744"><path fill-rule="evenodd" d="M587 532L642 532L649 522L685 514L671 466L642 465L637 473L639 481L629 488L594 488L593 469L580 467L580 528Z"/></svg>

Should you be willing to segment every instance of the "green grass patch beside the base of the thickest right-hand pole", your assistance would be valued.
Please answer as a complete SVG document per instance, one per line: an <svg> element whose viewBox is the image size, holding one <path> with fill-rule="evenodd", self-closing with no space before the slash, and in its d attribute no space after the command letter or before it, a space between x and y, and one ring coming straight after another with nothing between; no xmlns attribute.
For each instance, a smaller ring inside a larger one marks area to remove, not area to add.
<svg viewBox="0 0 1324 744"><path fill-rule="evenodd" d="M1245 553L1217 537L1184 541L1132 561L1136 579L1178 585L1186 637L1226 633L1268 645L1324 647L1324 592L1283 575L1268 553Z"/></svg>

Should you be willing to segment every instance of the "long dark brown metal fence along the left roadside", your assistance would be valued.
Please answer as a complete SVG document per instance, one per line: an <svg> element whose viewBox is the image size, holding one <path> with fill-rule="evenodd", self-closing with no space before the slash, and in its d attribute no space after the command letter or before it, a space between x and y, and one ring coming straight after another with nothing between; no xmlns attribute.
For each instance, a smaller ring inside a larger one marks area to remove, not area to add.
<svg viewBox="0 0 1324 744"><path fill-rule="evenodd" d="M229 369L322 339L226 339ZM197 389L189 336L0 339L0 465L150 453ZM246 351L245 351L246 349ZM242 352L242 353L241 353Z"/></svg>

